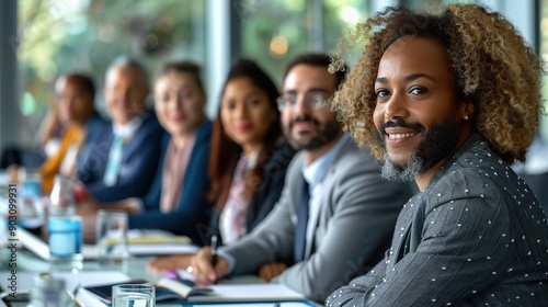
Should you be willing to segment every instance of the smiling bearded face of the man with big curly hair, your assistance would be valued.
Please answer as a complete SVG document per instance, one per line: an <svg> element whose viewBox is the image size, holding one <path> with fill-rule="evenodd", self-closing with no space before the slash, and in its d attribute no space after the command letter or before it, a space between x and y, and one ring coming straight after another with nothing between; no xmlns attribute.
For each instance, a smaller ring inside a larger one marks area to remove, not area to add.
<svg viewBox="0 0 548 307"><path fill-rule="evenodd" d="M415 36L396 41L380 59L375 92L385 178L413 180L450 157L466 114L441 43Z"/></svg>

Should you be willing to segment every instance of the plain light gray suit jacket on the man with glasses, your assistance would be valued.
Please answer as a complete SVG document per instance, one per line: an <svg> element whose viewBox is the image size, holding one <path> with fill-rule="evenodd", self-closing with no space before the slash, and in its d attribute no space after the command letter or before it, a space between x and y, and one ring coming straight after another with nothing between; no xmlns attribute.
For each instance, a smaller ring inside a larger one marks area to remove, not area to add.
<svg viewBox="0 0 548 307"><path fill-rule="evenodd" d="M237 260L235 274L256 273L270 262L292 262L304 163L302 152L295 156L271 214L251 234L224 248ZM307 243L305 261L279 276L288 287L318 302L381 258L398 212L411 196L409 185L383 181L373 157L351 140L338 152L321 190L318 220L310 224L316 225L313 242Z"/></svg>

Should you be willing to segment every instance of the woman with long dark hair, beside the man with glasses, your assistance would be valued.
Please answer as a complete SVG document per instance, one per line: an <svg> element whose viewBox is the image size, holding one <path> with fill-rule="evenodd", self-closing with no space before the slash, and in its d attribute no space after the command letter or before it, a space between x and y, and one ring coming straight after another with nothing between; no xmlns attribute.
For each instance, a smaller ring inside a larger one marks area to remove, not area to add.
<svg viewBox="0 0 548 307"><path fill-rule="evenodd" d="M209 201L214 214L206 231L224 243L250 232L279 198L287 164L295 155L282 137L279 95L274 82L252 60L240 59L225 81L213 126ZM189 255L153 260L153 271L186 268Z"/></svg>

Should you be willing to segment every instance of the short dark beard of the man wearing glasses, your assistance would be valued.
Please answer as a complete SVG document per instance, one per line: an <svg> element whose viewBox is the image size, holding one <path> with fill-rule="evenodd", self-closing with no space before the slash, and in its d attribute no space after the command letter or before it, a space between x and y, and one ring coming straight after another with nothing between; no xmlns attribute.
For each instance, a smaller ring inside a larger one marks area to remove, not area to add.
<svg viewBox="0 0 548 307"><path fill-rule="evenodd" d="M293 126L299 122L310 123L315 129L307 135L294 137L292 133ZM284 134L293 148L297 150L316 150L335 139L341 134L341 125L336 121L321 125L318 120L311 116L302 116L292 121L289 127L284 127Z"/></svg>

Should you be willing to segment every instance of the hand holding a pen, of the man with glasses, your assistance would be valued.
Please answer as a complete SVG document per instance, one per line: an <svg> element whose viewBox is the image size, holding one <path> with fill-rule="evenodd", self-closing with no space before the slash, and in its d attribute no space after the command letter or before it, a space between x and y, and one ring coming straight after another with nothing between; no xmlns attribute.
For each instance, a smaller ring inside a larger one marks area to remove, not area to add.
<svg viewBox="0 0 548 307"><path fill-rule="evenodd" d="M191 266L192 274L197 282L201 283L215 283L216 281L225 277L228 273L228 261L222 258L217 258L217 265L212 265L213 255L210 247L203 247L192 258Z"/></svg>

